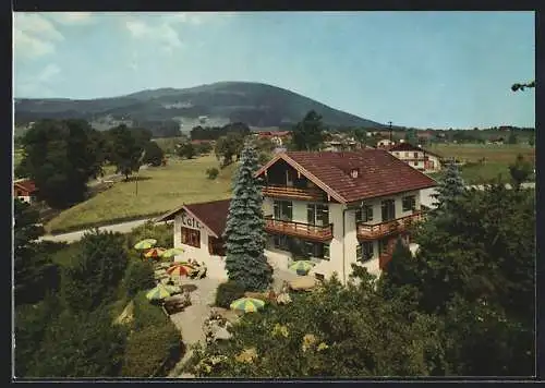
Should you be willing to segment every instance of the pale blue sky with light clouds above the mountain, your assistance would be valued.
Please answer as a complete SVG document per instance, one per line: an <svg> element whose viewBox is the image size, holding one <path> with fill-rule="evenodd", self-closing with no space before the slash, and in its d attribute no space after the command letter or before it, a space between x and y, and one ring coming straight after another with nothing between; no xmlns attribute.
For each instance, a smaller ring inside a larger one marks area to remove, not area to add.
<svg viewBox="0 0 545 388"><path fill-rule="evenodd" d="M14 97L261 82L380 123L535 125L534 12L14 13Z"/></svg>

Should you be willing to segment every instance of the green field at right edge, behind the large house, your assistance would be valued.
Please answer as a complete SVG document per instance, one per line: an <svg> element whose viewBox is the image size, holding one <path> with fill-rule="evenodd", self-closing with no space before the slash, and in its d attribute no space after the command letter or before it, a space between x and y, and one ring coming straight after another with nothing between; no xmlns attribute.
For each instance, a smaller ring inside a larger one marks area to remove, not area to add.
<svg viewBox="0 0 545 388"><path fill-rule="evenodd" d="M444 157L456 157L467 162L461 167L462 178L467 183L479 184L501 174L501 180L509 182L509 165L518 154L535 166L535 148L524 145L476 145L476 144L436 144L427 147L433 153ZM480 163L481 158L485 158ZM433 178L438 178L434 174Z"/></svg>

